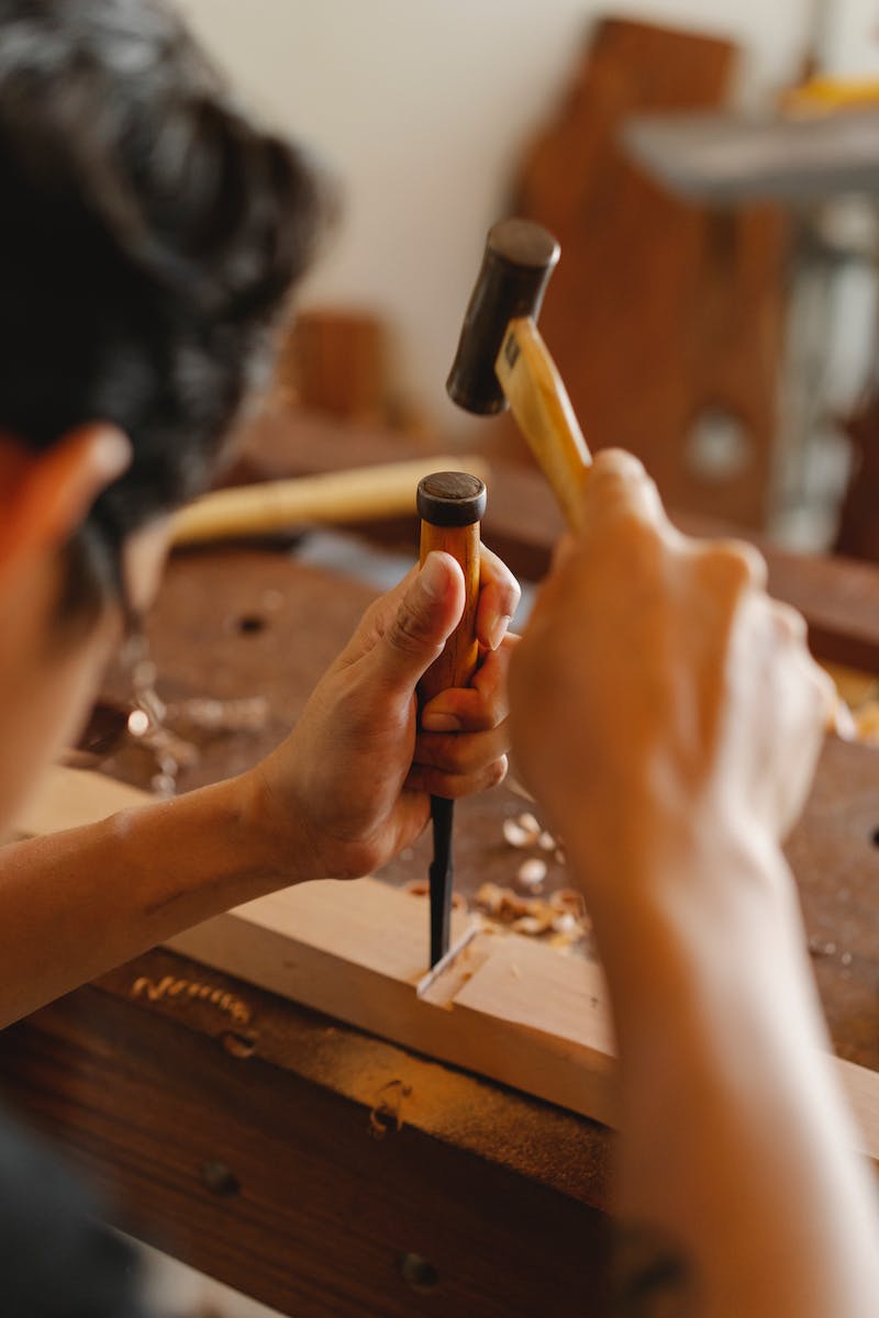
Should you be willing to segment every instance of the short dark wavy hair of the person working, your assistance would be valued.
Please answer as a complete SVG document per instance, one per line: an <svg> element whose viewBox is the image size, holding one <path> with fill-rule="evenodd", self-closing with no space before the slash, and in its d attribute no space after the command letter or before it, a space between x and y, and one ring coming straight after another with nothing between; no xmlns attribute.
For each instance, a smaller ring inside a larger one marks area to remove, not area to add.
<svg viewBox="0 0 879 1318"><path fill-rule="evenodd" d="M69 552L67 610L203 490L329 191L161 0L0 0L0 427L132 440ZM111 530L112 529L112 530Z"/></svg>

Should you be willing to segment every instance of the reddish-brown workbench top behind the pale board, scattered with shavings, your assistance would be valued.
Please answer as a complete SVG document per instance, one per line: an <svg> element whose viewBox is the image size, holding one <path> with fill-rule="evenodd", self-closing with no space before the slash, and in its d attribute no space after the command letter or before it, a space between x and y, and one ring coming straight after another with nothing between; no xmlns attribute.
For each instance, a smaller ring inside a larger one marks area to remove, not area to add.
<svg viewBox="0 0 879 1318"><path fill-rule="evenodd" d="M830 565L826 587L828 601L836 601L836 616L842 619L846 597L845 581L851 581L849 602L858 622L863 614L858 605L870 601L874 626L879 634L879 571L853 564L851 572L839 564L820 561L804 564L797 577L796 559L784 560L788 579L781 584L787 596L804 590L804 581L817 568ZM836 584L836 593L832 587ZM217 778L240 772L266 754L298 718L308 692L318 677L348 639L374 592L319 568L304 567L285 555L227 550L213 554L181 555L173 560L162 593L149 622L152 652L161 673L158 689L169 701L191 696L219 700L262 695L269 701L270 718L252 735L202 735L200 759L181 775L181 788L187 789ZM829 608L829 604L828 604ZM865 622L865 626L870 618ZM206 656L207 662L206 662ZM879 671L879 667L878 670ZM108 693L123 700L125 675L119 672L108 681ZM107 766L120 778L144 786L152 771L152 759L136 743ZM510 849L502 837L503 818L531 808L515 788L503 787L460 801L457 805L457 883L463 895L472 899L484 882L514 884L522 853ZM821 974L826 982L828 1011L836 1015L834 994L846 1002L857 977L841 957L863 937L874 941L875 958L861 963L865 1003L874 995L867 1014L868 1028L876 1036L874 1052L863 1052L861 1028L849 1037L845 1012L838 1020L837 1043L842 1056L879 1069L879 849L874 832L879 829L879 750L828 742L821 762L813 799L791 841L791 855L813 919L809 929L820 941L839 921L854 919L841 932L837 954L821 957ZM419 844L393 862L383 876L394 883L407 883L427 875L430 840ZM564 884L563 867L548 858L548 887ZM847 908L838 900L841 873L858 876L858 904ZM872 969L871 969L872 967Z"/></svg>

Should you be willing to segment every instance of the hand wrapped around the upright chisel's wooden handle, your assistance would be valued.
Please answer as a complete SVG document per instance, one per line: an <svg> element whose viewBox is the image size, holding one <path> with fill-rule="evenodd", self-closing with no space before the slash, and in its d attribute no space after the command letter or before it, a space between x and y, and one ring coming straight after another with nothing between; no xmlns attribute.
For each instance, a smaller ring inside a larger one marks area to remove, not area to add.
<svg viewBox="0 0 879 1318"><path fill-rule="evenodd" d="M252 771L279 869L368 874L418 837L431 793L459 797L501 782L515 642L506 627L518 600L515 579L482 548L480 666L469 688L424 705L420 726L416 685L461 616L461 569L448 554L431 554L368 609L290 737Z"/></svg>

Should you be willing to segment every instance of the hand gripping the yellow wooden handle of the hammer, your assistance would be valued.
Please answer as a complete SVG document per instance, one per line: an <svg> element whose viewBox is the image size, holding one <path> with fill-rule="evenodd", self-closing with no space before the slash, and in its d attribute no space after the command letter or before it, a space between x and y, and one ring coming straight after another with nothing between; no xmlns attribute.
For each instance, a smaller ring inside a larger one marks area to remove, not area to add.
<svg viewBox="0 0 879 1318"><path fill-rule="evenodd" d="M510 673L517 771L579 873L611 883L696 837L778 842L833 699L803 619L766 594L754 548L679 534L626 453L597 456L582 525Z"/></svg>

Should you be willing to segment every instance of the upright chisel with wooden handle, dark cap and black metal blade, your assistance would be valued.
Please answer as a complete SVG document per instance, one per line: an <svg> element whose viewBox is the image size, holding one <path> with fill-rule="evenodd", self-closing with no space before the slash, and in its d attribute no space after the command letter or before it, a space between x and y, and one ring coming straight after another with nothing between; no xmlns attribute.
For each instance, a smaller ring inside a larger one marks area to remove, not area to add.
<svg viewBox="0 0 879 1318"><path fill-rule="evenodd" d="M476 609L480 596L480 522L485 513L485 484L465 472L435 472L418 485L418 511L422 518L420 561L434 550L457 560L464 573L465 604L461 619L445 642L443 654L419 683L419 704L424 705L449 687L467 687L478 662ZM445 956L452 912L453 803L431 797L434 862L430 869L431 966Z"/></svg>

